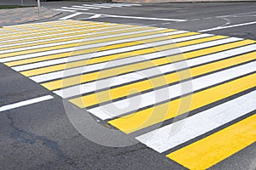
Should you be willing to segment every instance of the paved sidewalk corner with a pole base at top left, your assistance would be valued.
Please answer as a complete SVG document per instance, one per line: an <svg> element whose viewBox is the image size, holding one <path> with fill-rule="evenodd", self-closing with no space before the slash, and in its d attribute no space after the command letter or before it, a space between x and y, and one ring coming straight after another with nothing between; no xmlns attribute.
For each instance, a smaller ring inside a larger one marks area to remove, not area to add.
<svg viewBox="0 0 256 170"><path fill-rule="evenodd" d="M38 14L37 7L0 9L0 26L13 26L36 20L44 20L57 14L61 14L61 12L44 7L41 8L41 14Z"/></svg>

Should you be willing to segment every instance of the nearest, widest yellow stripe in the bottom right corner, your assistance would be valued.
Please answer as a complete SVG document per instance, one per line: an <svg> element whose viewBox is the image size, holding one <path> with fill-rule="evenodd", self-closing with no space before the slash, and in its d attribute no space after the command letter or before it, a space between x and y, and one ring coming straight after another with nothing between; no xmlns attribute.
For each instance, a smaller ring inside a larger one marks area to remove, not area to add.
<svg viewBox="0 0 256 170"><path fill-rule="evenodd" d="M167 157L189 169L207 169L256 142L256 115L213 133Z"/></svg>

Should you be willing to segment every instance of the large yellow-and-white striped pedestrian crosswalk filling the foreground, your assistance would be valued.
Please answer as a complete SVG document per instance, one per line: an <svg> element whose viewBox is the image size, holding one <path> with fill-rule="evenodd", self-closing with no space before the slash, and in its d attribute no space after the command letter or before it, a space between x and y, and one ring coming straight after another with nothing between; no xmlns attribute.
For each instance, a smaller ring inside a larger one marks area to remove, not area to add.
<svg viewBox="0 0 256 170"><path fill-rule="evenodd" d="M0 62L189 169L256 141L256 41L81 20L0 29Z"/></svg>

